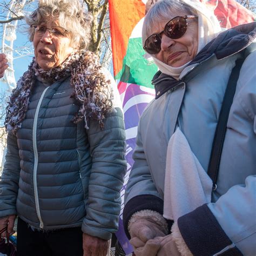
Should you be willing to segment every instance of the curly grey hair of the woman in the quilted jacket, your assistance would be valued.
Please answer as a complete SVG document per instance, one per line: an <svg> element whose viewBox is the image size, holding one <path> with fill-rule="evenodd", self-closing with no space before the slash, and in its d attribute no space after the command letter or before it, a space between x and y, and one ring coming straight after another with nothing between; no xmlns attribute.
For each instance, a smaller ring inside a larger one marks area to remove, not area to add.
<svg viewBox="0 0 256 256"><path fill-rule="evenodd" d="M90 42L91 15L83 11L79 0L39 0L38 8L26 18L26 23L41 24L50 19L69 31L72 43L78 44L79 50L86 49ZM34 31L29 28L29 39L32 42Z"/></svg>

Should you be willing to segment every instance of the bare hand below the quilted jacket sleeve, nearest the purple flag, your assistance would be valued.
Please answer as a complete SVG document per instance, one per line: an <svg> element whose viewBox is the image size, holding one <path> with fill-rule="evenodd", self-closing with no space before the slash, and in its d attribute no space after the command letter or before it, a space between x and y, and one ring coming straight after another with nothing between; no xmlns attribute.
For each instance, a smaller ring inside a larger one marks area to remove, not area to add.
<svg viewBox="0 0 256 256"><path fill-rule="evenodd" d="M83 233L84 256L105 256L109 250L109 241Z"/></svg>

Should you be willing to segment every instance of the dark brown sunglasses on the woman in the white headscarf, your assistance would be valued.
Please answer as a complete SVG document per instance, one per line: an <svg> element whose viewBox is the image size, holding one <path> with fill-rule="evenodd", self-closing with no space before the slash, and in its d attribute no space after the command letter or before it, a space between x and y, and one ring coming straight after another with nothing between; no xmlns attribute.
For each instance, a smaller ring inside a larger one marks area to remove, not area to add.
<svg viewBox="0 0 256 256"><path fill-rule="evenodd" d="M171 21L166 23L163 31L159 34L153 34L146 39L143 49L150 54L157 54L161 50L161 37L163 33L171 39L178 39L182 37L187 30L186 19L197 17L196 15L174 17Z"/></svg>

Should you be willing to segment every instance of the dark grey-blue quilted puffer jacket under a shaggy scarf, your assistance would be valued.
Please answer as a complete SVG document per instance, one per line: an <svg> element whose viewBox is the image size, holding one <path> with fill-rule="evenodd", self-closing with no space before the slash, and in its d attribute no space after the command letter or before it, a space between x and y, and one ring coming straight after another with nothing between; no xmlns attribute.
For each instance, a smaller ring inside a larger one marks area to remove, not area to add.
<svg viewBox="0 0 256 256"><path fill-rule="evenodd" d="M113 79L112 86L119 97ZM18 214L44 230L82 226L110 239L126 171L123 113L115 98L104 130L96 121L86 130L72 122L79 109L72 92L70 77L50 86L37 80L17 137L8 134L0 218Z"/></svg>

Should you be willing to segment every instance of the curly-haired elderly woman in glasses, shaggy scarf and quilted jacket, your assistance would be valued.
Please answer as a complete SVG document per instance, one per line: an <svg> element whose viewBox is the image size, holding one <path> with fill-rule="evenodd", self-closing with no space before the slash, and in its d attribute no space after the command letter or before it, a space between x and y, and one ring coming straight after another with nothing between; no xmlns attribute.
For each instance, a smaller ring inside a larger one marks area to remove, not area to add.
<svg viewBox="0 0 256 256"><path fill-rule="evenodd" d="M35 57L6 107L0 230L18 216L19 256L106 255L126 171L116 84L86 50L79 1L39 1L26 22Z"/></svg>

